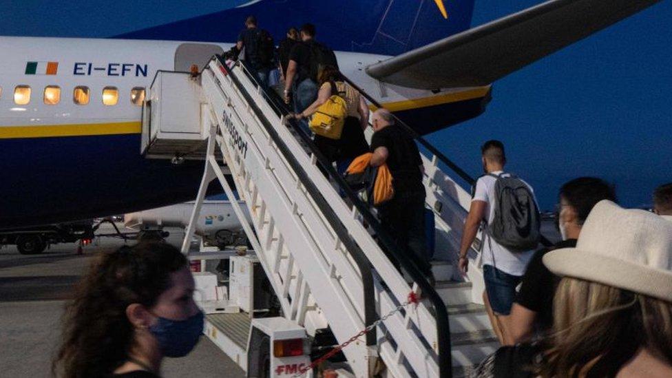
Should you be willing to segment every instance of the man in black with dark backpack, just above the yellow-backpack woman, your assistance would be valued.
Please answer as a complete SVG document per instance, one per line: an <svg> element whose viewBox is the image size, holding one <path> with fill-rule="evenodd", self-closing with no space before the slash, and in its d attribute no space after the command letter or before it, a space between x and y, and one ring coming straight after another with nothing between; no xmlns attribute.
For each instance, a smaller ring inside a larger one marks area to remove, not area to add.
<svg viewBox="0 0 672 378"><path fill-rule="evenodd" d="M317 79L322 68L327 65L338 68L334 52L315 41L315 25L306 23L300 34L302 43L297 43L289 53L284 81L284 101L289 103L293 98L296 114L303 112L317 98Z"/></svg>

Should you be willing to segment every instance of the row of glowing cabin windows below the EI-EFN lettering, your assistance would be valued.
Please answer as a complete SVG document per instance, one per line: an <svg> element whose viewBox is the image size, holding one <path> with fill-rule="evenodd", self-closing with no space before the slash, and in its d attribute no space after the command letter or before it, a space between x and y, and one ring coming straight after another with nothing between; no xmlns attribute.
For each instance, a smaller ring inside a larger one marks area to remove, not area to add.
<svg viewBox="0 0 672 378"><path fill-rule="evenodd" d="M17 105L28 105L31 94L30 85L17 85L14 87L14 103ZM2 96L2 87L0 87L0 97ZM61 87L58 85L47 85L43 91L43 101L45 105L56 105L61 102ZM76 105L87 105L91 99L89 87L83 85L74 87L72 91L72 101ZM136 106L143 106L145 101L145 88L133 87L131 90L131 103ZM103 88L103 105L116 105L119 102L119 91L116 87Z"/></svg>

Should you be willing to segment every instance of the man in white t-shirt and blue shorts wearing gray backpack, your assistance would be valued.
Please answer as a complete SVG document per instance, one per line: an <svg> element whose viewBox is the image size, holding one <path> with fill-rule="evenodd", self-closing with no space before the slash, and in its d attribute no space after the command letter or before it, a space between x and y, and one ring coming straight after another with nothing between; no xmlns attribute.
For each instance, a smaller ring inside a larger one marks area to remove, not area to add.
<svg viewBox="0 0 672 378"><path fill-rule="evenodd" d="M469 215L462 231L459 268L468 271L468 252L481 224L485 224L481 240L483 302L500 342L516 286L527 268L540 239L540 215L534 192L527 182L505 173L504 145L488 140L481 147L485 175L476 181Z"/></svg>

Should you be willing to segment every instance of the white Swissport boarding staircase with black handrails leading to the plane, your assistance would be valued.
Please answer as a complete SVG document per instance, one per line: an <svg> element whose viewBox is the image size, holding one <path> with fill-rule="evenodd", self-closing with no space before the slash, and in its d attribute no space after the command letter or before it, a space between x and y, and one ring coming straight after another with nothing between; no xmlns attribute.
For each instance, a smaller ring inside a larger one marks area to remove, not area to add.
<svg viewBox="0 0 672 378"><path fill-rule="evenodd" d="M205 160L194 218L212 180L220 182L231 200L244 200L252 222L242 223L282 314L309 335L330 328L340 344L392 313L342 350L352 375L370 377L381 366L392 377L465 375L497 344L479 304L483 280L476 250L470 251L467 280L453 269L470 202L461 185L445 174L444 169L457 168L425 146L432 154L423 156L424 183L427 206L434 211L439 258L434 262L439 282L432 288L382 231L370 209L333 167L323 163L306 132L297 123L286 122L282 103L256 85L253 77L244 63L229 67L219 57L213 57L198 76L158 72L155 82L193 96L179 109L192 114L198 127L191 127L185 137L175 125L167 129L156 125L155 114L168 119L167 109L176 107L179 98L152 88L143 108L143 133L148 133L143 136L143 154L171 158L175 140L174 150L180 152L172 156L174 162L189 154ZM153 143L160 146L158 154L152 155ZM458 174L470 180L462 171ZM232 203L244 219L239 202ZM192 233L190 224L185 249ZM379 244L386 246L406 275L395 269ZM410 293L419 294L420 302L393 312Z"/></svg>

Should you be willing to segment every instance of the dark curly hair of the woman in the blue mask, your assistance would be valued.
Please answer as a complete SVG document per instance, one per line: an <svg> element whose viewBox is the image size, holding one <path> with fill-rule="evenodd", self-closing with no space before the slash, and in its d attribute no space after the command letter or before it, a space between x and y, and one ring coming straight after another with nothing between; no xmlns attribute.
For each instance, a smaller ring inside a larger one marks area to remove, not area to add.
<svg viewBox="0 0 672 378"><path fill-rule="evenodd" d="M63 344L54 358L58 377L103 377L124 363L134 347L129 304L156 304L171 285L171 273L187 258L165 242L142 242L105 253L77 284L65 307Z"/></svg>

